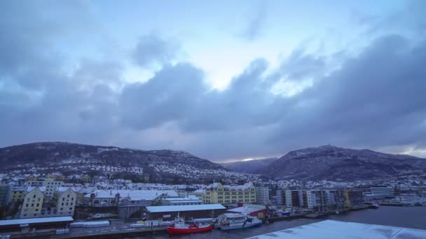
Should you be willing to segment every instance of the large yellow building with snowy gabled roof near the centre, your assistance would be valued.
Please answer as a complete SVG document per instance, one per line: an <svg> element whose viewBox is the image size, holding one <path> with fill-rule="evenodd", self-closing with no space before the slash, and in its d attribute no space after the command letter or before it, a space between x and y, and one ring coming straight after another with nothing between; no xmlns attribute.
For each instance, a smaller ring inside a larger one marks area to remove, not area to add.
<svg viewBox="0 0 426 239"><path fill-rule="evenodd" d="M222 185L220 182L214 182L194 194L199 196L203 203L256 203L256 189L252 182L244 185Z"/></svg>

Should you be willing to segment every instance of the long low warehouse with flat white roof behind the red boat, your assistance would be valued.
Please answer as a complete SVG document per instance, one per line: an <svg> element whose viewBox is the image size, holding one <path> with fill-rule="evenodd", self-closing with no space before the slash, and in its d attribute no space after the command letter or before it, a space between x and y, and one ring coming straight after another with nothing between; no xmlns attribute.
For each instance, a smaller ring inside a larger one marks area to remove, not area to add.
<svg viewBox="0 0 426 239"><path fill-rule="evenodd" d="M221 204L149 206L144 210L146 219L163 221L172 221L177 215L184 219L216 218L224 212Z"/></svg>

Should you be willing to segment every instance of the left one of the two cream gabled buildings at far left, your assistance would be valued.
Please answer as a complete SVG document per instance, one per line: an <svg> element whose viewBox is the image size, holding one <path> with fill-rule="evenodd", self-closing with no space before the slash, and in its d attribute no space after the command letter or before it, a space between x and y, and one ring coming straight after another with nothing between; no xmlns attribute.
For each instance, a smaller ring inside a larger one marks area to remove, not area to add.
<svg viewBox="0 0 426 239"><path fill-rule="evenodd" d="M44 187L27 187L20 210L20 218L41 217L45 190Z"/></svg>

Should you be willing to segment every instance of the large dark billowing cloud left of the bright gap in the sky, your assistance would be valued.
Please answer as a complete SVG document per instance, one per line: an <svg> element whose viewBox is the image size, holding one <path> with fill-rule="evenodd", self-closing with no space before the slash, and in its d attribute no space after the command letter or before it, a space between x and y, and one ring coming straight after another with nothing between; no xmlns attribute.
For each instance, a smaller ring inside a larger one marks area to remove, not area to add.
<svg viewBox="0 0 426 239"><path fill-rule="evenodd" d="M120 98L123 124L147 129L181 120L193 110L205 89L202 71L191 64L164 66L148 82L123 89Z"/></svg>

